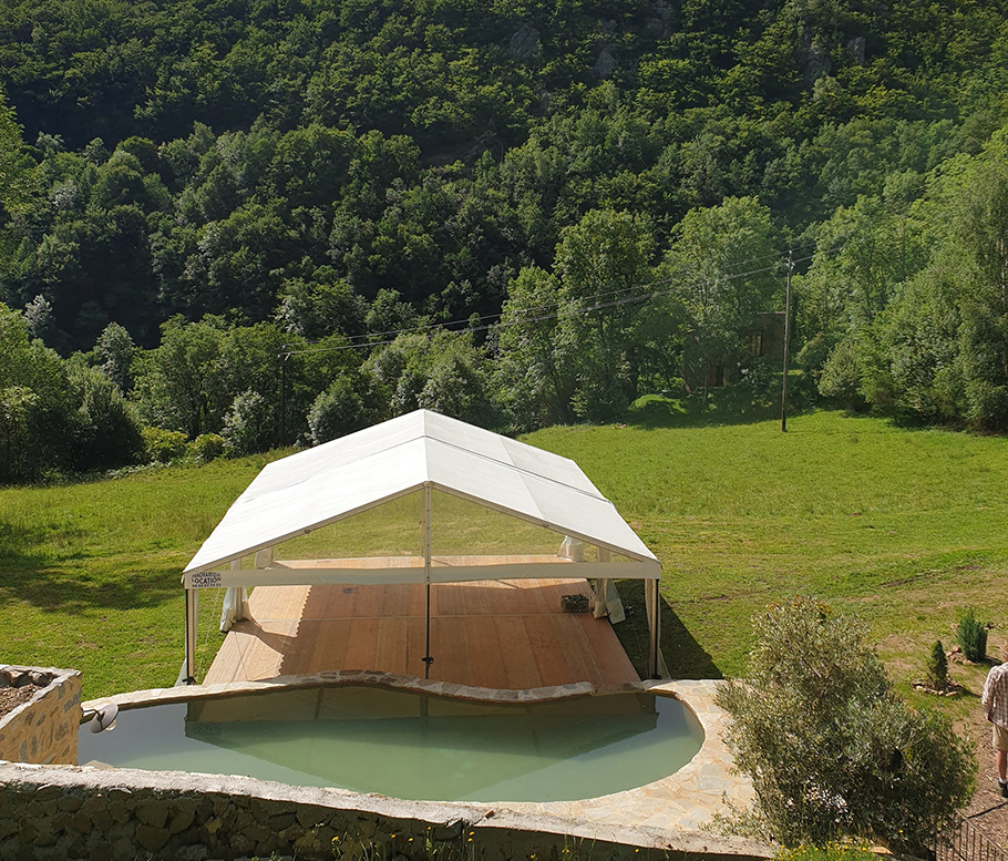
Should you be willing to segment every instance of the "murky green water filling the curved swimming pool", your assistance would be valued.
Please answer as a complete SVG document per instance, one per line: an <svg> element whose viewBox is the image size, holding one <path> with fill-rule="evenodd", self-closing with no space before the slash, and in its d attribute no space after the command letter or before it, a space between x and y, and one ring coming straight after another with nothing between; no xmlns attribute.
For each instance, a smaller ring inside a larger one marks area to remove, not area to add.
<svg viewBox="0 0 1008 861"><path fill-rule="evenodd" d="M671 775L702 741L692 711L652 694L522 705L319 687L122 710L112 732L82 726L79 761L429 801L563 801Z"/></svg>

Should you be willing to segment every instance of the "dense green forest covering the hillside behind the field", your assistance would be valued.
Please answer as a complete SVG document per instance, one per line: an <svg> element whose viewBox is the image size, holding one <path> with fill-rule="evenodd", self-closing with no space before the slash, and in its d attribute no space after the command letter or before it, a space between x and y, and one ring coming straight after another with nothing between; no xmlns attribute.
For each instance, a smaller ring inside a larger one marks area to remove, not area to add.
<svg viewBox="0 0 1008 861"><path fill-rule="evenodd" d="M768 397L1008 430L1008 0L0 0L0 481Z"/></svg>

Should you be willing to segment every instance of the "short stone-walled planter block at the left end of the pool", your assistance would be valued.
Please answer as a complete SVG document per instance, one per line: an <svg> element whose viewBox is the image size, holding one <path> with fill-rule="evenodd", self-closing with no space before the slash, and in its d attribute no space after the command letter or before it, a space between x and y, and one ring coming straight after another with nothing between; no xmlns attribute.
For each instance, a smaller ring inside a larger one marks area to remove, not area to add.
<svg viewBox="0 0 1008 861"><path fill-rule="evenodd" d="M81 722L81 674L75 669L0 667L0 685L22 679L41 690L0 718L0 759L76 765Z"/></svg>

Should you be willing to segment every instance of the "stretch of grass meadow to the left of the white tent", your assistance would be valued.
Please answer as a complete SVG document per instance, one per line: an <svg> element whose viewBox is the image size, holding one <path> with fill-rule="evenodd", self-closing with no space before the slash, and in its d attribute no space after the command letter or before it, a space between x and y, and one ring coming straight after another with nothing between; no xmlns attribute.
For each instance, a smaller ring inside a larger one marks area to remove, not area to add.
<svg viewBox="0 0 1008 861"><path fill-rule="evenodd" d="M0 491L0 662L81 669L85 698L173 685L182 568L266 462Z"/></svg>

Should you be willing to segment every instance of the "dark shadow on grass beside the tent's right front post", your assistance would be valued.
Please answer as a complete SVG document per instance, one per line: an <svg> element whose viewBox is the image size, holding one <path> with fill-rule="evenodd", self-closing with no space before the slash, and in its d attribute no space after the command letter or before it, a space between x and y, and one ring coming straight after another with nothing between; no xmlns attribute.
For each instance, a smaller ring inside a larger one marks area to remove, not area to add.
<svg viewBox="0 0 1008 861"><path fill-rule="evenodd" d="M613 626L637 675L647 678L648 632L647 611L644 601L644 581L619 582L619 596L627 611L626 622ZM661 597L661 654L668 665L671 678L723 678L713 658L693 638L682 619Z"/></svg>

